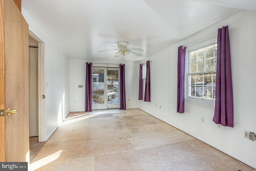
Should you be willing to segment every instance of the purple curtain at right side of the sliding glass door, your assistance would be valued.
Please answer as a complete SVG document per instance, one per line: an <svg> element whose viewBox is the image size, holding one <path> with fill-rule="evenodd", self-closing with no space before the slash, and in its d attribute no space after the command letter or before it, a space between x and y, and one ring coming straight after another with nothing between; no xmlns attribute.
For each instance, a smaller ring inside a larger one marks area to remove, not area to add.
<svg viewBox="0 0 256 171"><path fill-rule="evenodd" d="M126 100L125 100L125 72L124 72L124 64L120 64L120 108L126 109Z"/></svg>

